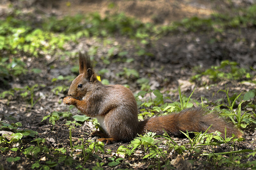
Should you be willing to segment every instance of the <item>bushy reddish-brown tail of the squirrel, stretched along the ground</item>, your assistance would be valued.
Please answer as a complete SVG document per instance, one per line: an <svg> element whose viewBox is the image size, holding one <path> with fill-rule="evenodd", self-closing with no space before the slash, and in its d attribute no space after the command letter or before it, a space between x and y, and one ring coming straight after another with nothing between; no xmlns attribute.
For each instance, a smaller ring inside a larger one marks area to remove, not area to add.
<svg viewBox="0 0 256 170"><path fill-rule="evenodd" d="M189 132L205 132L212 124L211 128L207 131L208 133L218 130L224 137L226 127L227 136L230 137L232 134L238 137L242 136L242 133L232 123L219 118L217 114L206 113L202 108L195 108L185 109L179 113L165 116L154 116L140 122L140 134L155 132L157 135L162 135L164 130L169 135L179 135L181 134L180 130L183 132L186 132L186 130Z"/></svg>

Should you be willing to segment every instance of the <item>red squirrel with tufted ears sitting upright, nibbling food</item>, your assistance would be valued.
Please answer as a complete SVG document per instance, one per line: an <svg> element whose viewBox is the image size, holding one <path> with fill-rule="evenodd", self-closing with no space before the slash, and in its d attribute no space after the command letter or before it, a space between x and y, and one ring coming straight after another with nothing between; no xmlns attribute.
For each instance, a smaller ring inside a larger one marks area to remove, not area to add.
<svg viewBox="0 0 256 170"><path fill-rule="evenodd" d="M98 141L114 143L131 141L136 135L155 132L157 135L179 135L180 131L209 133L218 130L222 136L241 136L232 123L224 121L214 113L206 114L202 108L185 109L179 113L154 116L138 121L138 108L132 91L122 85L103 85L97 79L90 57L79 51L79 75L73 80L64 104L74 105L82 114L97 118L104 132L95 131Z"/></svg>

